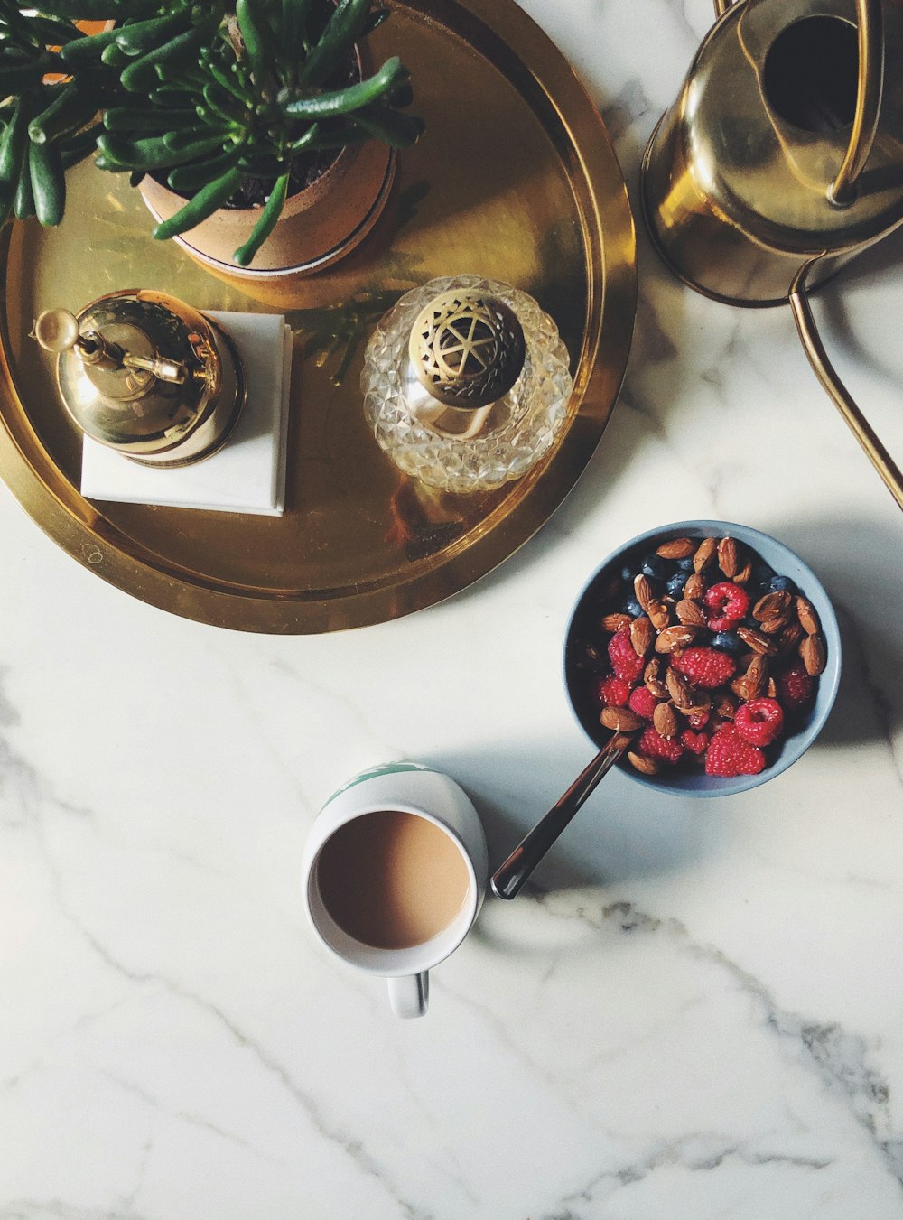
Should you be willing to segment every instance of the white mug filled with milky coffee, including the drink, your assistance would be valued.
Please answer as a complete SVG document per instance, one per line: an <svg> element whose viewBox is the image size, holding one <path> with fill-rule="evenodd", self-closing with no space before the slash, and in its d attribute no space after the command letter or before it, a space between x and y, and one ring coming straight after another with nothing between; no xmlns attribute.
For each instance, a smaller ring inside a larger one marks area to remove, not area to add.
<svg viewBox="0 0 903 1220"><path fill-rule="evenodd" d="M398 1016L427 1009L427 971L461 943L486 892L473 805L448 776L414 762L350 780L320 811L304 854L316 935L343 960L386 976Z"/></svg>

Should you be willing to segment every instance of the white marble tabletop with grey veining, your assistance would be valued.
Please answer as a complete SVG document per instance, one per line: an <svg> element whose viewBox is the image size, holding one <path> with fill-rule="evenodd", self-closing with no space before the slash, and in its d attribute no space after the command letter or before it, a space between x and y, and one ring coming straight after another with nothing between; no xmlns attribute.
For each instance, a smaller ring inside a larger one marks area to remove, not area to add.
<svg viewBox="0 0 903 1220"><path fill-rule="evenodd" d="M526 7L636 201L710 2ZM431 610L327 637L199 626L0 493L0 1220L903 1214L903 518L788 312L704 300L639 243L605 443L528 545ZM890 239L815 305L898 461L902 257ZM534 884L484 904L428 1016L397 1021L308 931L320 804L428 762L498 863L588 760L559 678L574 595L692 516L779 536L833 594L821 738L736 798L610 776Z"/></svg>

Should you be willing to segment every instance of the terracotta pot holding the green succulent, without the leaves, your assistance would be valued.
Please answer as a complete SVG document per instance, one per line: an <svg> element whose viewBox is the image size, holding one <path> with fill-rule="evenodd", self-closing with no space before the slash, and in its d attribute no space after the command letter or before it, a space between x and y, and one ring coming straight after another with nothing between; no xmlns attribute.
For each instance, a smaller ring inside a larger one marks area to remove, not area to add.
<svg viewBox="0 0 903 1220"><path fill-rule="evenodd" d="M312 185L289 196L249 267L239 267L232 255L250 237L260 207L220 209L171 240L216 274L245 281L243 287L321 271L371 231L389 196L397 159L378 140L345 146ZM138 189L157 221L168 220L185 203L150 174Z"/></svg>

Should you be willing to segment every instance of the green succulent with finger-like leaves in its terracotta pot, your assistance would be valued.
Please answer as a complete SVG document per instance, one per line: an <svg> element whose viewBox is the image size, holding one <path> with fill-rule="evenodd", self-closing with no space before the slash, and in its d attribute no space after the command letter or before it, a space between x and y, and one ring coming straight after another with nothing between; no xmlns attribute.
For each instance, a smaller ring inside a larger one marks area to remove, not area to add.
<svg viewBox="0 0 903 1220"><path fill-rule="evenodd" d="M422 131L400 61L370 71L360 48L386 10L104 0L116 24L85 35L72 18L100 2L0 0L7 211L59 223L66 168L96 150L140 187L155 237L239 274L323 266L364 235Z"/></svg>

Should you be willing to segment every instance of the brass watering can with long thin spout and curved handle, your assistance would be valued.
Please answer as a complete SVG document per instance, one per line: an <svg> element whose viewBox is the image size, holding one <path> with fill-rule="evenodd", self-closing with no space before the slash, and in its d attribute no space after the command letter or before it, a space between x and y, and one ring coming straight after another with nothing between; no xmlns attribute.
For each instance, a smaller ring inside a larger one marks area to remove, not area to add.
<svg viewBox="0 0 903 1220"><path fill-rule="evenodd" d="M649 233L697 292L791 305L819 381L903 509L903 475L807 298L903 223L903 2L715 0L715 12L646 149Z"/></svg>

